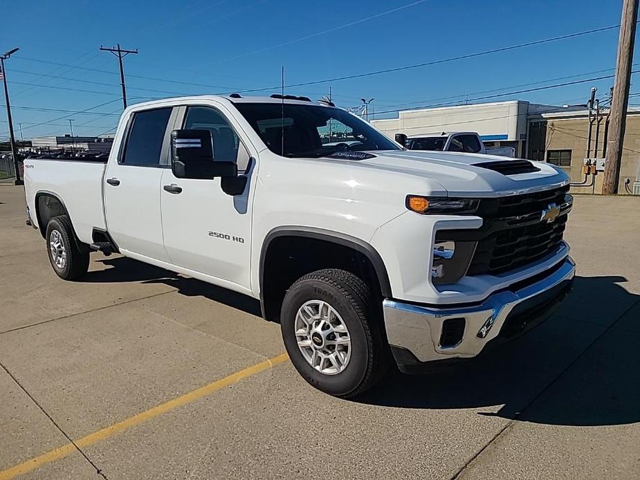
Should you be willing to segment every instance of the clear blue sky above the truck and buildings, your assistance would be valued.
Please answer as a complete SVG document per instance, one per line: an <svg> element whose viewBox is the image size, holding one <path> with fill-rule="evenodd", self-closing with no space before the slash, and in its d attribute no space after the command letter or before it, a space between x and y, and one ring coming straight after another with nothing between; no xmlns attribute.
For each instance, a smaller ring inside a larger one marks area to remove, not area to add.
<svg viewBox="0 0 640 480"><path fill-rule="evenodd" d="M68 118L73 118L75 135L89 135L113 129L122 109L117 59L100 52L100 44L120 43L123 48L140 50L138 55L125 59L127 96L129 103L133 103L156 97L277 86L283 65L286 84L294 84L615 25L620 21L621 3L621 0L4 1L0 50L20 47L19 53L7 62L18 138L18 123L22 123L24 137L30 138L68 133ZM561 82L613 73L617 39L618 30L609 30L446 64L292 88L287 93L320 98L331 86L333 98L340 106L355 106L362 97L375 98L372 109L378 112L437 102L464 102L466 95L473 100L485 95L479 92L493 89L505 93L527 88L520 85L531 82L551 80L547 84L553 84L558 83L553 79L569 75L576 77ZM611 71L593 73L606 68ZM584 103L591 86L598 86L598 96L604 96L611 84L612 80L601 80L495 100ZM634 91L640 91L640 87L636 90L632 86ZM91 111L111 115L57 111L82 111L99 104L104 105ZM35 126L39 122L48 124ZM1 108L0 138L6 137L6 127L6 111Z"/></svg>

